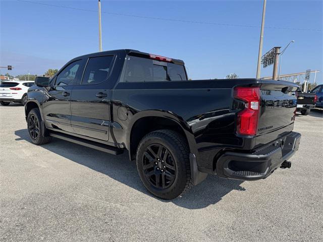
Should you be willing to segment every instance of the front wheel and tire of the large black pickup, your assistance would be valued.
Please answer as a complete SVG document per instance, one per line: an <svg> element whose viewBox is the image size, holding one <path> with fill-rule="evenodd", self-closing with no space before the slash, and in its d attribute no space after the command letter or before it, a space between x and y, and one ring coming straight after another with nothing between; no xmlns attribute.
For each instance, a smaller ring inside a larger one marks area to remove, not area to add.
<svg viewBox="0 0 323 242"><path fill-rule="evenodd" d="M41 115L38 108L33 108L27 117L28 135L35 145L47 144L51 141L51 136L44 136L46 132L41 126Z"/></svg>

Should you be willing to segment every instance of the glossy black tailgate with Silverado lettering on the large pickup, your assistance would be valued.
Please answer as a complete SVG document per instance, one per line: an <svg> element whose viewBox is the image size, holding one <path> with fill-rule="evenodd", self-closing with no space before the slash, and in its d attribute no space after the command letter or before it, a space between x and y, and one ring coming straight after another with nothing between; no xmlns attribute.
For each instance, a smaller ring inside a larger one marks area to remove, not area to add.
<svg viewBox="0 0 323 242"><path fill-rule="evenodd" d="M263 145L291 132L296 110L294 83L274 81L260 86L260 113L256 145Z"/></svg>

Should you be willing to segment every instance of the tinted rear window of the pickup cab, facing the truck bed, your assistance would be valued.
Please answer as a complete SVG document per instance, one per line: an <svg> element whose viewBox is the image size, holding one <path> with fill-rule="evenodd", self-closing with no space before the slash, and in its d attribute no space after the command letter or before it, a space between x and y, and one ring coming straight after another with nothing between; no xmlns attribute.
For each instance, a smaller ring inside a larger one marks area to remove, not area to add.
<svg viewBox="0 0 323 242"><path fill-rule="evenodd" d="M122 82L187 81L182 65L127 56Z"/></svg>

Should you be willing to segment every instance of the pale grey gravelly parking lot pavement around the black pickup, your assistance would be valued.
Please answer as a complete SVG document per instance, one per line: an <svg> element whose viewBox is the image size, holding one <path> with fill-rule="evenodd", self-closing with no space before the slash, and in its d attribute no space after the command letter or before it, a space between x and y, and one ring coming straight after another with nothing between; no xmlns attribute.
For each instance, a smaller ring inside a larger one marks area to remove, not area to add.
<svg viewBox="0 0 323 242"><path fill-rule="evenodd" d="M298 115L291 169L265 180L208 176L152 197L127 154L30 143L24 108L0 106L1 241L322 241L323 114Z"/></svg>

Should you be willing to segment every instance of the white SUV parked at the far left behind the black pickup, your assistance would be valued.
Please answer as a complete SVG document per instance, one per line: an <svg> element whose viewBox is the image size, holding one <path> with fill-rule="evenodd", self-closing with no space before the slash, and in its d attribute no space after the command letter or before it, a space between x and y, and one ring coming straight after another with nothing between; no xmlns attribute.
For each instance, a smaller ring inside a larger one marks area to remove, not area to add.
<svg viewBox="0 0 323 242"><path fill-rule="evenodd" d="M34 85L32 81L6 81L0 84L0 103L3 106L11 102L21 102L25 105L27 90Z"/></svg>

